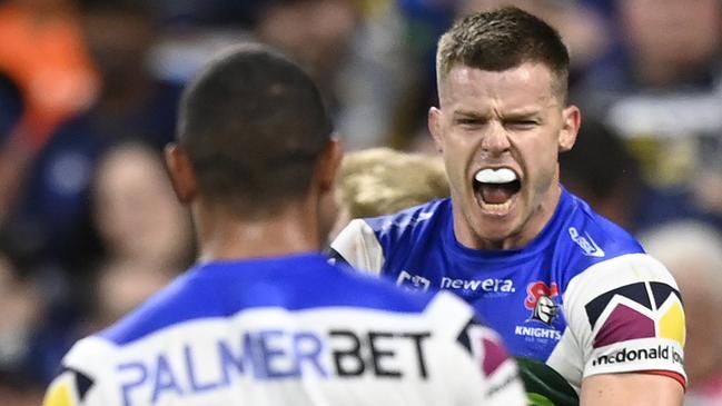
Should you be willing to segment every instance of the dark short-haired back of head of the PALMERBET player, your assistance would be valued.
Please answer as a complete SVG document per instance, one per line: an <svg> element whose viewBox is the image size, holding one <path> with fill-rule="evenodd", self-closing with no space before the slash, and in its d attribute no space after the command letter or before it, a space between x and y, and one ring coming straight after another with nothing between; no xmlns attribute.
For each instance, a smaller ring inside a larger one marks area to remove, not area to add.
<svg viewBox="0 0 722 406"><path fill-rule="evenodd" d="M247 217L305 197L333 131L310 77L251 43L211 61L186 88L179 115L199 192Z"/></svg>

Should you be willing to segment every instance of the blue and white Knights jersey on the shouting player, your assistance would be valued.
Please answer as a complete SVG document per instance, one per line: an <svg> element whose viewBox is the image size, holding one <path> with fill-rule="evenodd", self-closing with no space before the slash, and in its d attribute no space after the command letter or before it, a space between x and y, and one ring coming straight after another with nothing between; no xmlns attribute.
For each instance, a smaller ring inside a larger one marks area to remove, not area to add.
<svg viewBox="0 0 722 406"><path fill-rule="evenodd" d="M590 375L652 372L683 385L676 284L626 231L563 190L526 247L475 250L454 236L451 199L353 220L334 255L402 287L451 290L510 351L546 363L578 393Z"/></svg>

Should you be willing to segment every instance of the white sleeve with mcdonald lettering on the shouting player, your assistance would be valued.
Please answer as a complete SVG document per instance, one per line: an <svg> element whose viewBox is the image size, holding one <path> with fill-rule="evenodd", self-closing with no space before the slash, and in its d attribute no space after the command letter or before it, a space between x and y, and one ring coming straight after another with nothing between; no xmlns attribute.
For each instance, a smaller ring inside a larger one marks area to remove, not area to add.
<svg viewBox="0 0 722 406"><path fill-rule="evenodd" d="M570 283L564 310L582 355L583 377L662 370L686 380L679 288L649 255L593 265Z"/></svg>

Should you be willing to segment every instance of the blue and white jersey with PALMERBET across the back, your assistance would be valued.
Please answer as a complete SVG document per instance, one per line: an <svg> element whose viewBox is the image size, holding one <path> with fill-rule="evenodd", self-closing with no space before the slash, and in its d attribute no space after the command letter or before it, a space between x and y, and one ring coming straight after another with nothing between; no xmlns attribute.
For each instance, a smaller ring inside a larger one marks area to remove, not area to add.
<svg viewBox="0 0 722 406"><path fill-rule="evenodd" d="M474 320L320 254L210 263L78 341L44 405L524 405Z"/></svg>

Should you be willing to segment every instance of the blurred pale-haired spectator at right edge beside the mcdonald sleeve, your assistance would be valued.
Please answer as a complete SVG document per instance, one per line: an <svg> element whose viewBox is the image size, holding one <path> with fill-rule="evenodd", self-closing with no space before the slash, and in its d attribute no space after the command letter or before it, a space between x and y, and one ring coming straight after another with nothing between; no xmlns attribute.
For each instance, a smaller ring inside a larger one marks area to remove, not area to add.
<svg viewBox="0 0 722 406"><path fill-rule="evenodd" d="M684 405L722 405L722 236L703 222L680 221L651 229L641 241L672 273L684 300Z"/></svg>

